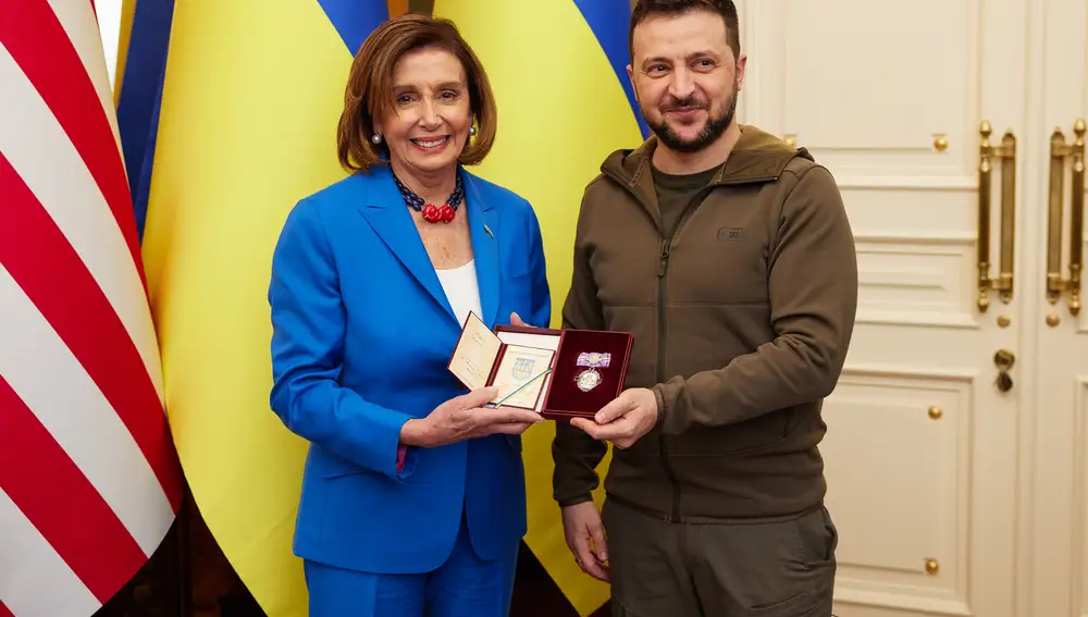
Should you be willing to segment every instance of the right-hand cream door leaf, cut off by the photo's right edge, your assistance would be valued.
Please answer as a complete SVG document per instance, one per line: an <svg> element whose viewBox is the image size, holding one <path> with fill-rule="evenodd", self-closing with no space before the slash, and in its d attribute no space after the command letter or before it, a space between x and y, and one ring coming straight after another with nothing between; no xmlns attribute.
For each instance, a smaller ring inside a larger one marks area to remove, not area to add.
<svg viewBox="0 0 1088 617"><path fill-rule="evenodd" d="M1088 615L1088 310L1083 264L1088 9L1084 0L1035 2L1029 52L1031 208L1037 238L1025 333L1034 388L1034 447L1021 478L1031 495L1022 546L1024 615ZM1077 276L1073 274L1076 273ZM1076 293L1074 293L1074 291Z"/></svg>

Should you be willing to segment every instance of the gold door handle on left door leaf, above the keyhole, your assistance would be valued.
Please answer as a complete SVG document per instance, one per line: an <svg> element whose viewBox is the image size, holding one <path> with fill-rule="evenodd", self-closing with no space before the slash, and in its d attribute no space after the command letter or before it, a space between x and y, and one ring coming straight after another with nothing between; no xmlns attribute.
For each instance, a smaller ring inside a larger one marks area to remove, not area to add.
<svg viewBox="0 0 1088 617"><path fill-rule="evenodd" d="M978 127L978 310L990 308L990 292L1001 301L1013 299L1013 259L1016 240L1016 136L1005 131L1000 146L990 144L993 129L982 121ZM990 177L993 159L1001 161L1001 261L997 279L990 277Z"/></svg>

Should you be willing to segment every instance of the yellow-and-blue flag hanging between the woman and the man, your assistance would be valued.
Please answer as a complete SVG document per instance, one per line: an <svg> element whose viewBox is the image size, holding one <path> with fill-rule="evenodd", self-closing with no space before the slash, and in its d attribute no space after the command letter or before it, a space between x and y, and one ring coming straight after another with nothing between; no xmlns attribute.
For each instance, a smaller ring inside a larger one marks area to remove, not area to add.
<svg viewBox="0 0 1088 617"><path fill-rule="evenodd" d="M570 285L574 222L605 157L647 135L627 76L630 0L435 0L480 57L498 99L498 137L479 173L527 199L544 235L554 323ZM608 587L582 573L552 501L552 423L524 437L527 542L567 599L589 615ZM598 469L607 470L607 459ZM601 495L597 495L601 498ZM598 501L599 503L599 501Z"/></svg>

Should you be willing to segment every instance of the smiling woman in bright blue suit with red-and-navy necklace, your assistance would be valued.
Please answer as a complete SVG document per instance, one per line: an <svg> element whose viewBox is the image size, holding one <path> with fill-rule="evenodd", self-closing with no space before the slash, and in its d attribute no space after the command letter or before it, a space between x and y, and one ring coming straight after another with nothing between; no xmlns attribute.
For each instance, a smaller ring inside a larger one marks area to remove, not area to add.
<svg viewBox="0 0 1088 617"><path fill-rule="evenodd" d="M462 165L495 101L453 24L379 27L355 58L348 177L290 212L272 261L272 409L310 442L295 528L310 615L500 616L526 532L520 433L447 370L468 313L545 326L536 217ZM520 318L518 318L520 319Z"/></svg>

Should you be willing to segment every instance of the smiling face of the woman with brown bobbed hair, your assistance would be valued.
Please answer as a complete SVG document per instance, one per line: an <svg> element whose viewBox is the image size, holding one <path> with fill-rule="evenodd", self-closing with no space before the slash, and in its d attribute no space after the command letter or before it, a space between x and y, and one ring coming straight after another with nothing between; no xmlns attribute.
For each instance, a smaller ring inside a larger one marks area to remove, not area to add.
<svg viewBox="0 0 1088 617"><path fill-rule="evenodd" d="M465 69L453 53L424 48L405 54L393 74L393 110L374 124L395 163L433 173L457 163L472 109Z"/></svg>

